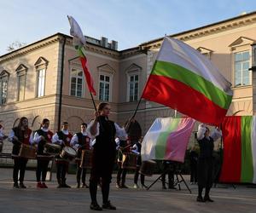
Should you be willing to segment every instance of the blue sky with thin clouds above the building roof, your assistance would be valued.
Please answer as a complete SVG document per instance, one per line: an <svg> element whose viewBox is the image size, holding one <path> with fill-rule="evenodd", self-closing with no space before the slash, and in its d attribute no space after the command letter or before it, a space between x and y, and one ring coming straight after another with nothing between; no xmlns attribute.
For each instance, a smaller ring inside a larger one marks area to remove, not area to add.
<svg viewBox="0 0 256 213"><path fill-rule="evenodd" d="M0 0L0 55L15 41L69 35L67 14L86 36L108 37L122 50L253 11L255 0Z"/></svg>

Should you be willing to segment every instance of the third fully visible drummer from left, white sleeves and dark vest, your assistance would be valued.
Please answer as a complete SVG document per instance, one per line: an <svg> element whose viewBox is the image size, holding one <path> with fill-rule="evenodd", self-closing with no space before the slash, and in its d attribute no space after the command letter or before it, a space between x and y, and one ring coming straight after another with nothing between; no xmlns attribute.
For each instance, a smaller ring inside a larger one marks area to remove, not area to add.
<svg viewBox="0 0 256 213"><path fill-rule="evenodd" d="M73 135L68 131L68 123L65 121L62 123L61 131L58 131L53 135L52 142L61 145L61 147L70 147L70 141ZM70 187L66 183L66 174L68 170L68 160L61 158L59 155L55 158L57 167L57 181L58 188L60 187Z"/></svg>

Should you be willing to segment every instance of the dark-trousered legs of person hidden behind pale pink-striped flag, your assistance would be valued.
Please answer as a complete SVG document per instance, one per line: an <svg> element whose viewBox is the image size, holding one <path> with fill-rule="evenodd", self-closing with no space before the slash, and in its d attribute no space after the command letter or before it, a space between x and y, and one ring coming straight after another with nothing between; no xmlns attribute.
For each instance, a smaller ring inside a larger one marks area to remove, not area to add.
<svg viewBox="0 0 256 213"><path fill-rule="evenodd" d="M166 174L168 175L168 188L176 189L174 187L174 171L175 171L175 165L174 162L171 160L164 160L164 174L161 178L162 181L162 189L166 189Z"/></svg>

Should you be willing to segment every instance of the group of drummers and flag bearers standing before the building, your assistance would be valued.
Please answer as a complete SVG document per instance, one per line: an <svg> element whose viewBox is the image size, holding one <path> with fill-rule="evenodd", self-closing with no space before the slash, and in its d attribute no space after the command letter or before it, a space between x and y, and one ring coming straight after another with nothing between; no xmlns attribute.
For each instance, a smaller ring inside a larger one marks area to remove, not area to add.
<svg viewBox="0 0 256 213"><path fill-rule="evenodd" d="M49 119L47 118L44 118L42 121L41 128L33 133L28 127L28 119L25 117L20 118L19 124L9 133L9 141L13 143L14 187L26 188L24 176L28 158L26 158L25 151L26 146L32 146L35 147L37 153L37 187L47 188L45 179L49 160L52 158L55 158L56 179L58 181L57 187L70 187L67 185L66 175L70 161L75 158L77 165L77 187L89 187L91 210L116 209L109 200L110 182L112 180L113 165L116 159L118 165L116 187L127 188L125 185L125 176L127 170L132 169L135 171L133 187L139 187L138 176L140 175L141 187L146 188L144 182L145 176L139 173L142 165L141 149L143 141L140 125L134 118L130 118L125 126L121 128L108 118L110 110L108 103L103 102L99 104L94 114L95 118L88 126L85 123L81 124L81 130L74 135L68 130L67 122L63 122L61 130L54 134L49 130ZM219 136L221 136L221 134L218 129L214 130L212 135L210 135L208 127L201 124L197 134L201 152L198 155L195 150L191 150L190 153L190 182L198 184L198 202L212 202L209 192L212 187L213 141L217 140ZM3 126L1 125L0 143L2 144L4 137ZM22 152L24 150L25 156L20 154L21 150ZM90 158L87 158L89 153ZM87 161L90 161L90 166L83 166L85 157ZM130 163L126 164L128 158ZM173 164L172 161L163 161L163 168L165 172L161 178L162 188L166 189L166 175L168 176L168 188L175 188L175 164ZM88 169L90 169L89 185L85 182ZM102 189L102 206L98 204L96 198L98 185L100 185ZM204 198L202 198L201 195L203 188L206 188Z"/></svg>

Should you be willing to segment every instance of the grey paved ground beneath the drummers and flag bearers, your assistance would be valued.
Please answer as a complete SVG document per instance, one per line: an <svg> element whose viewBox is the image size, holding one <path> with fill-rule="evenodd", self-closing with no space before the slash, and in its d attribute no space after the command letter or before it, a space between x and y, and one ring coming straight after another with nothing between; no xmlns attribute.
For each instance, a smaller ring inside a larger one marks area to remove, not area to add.
<svg viewBox="0 0 256 213"><path fill-rule="evenodd" d="M34 181L35 172L26 171L25 184L27 189L13 189L12 170L0 169L0 212L8 213L38 213L59 212L79 213L95 212L89 210L90 194L88 189L74 188L75 176L67 176L67 183L73 186L70 189L57 189L55 174L53 181L48 182L48 189L37 189ZM188 176L184 176L188 179ZM146 177L149 185L157 176ZM181 184L182 190L162 190L161 183L157 182L150 190L132 188L132 176L128 175L127 185L131 188L117 189L111 185L110 199L118 210L104 210L105 212L255 212L256 188L247 186L218 185L212 188L214 203L195 202L197 187L189 185L192 194ZM102 203L99 191L98 202Z"/></svg>

